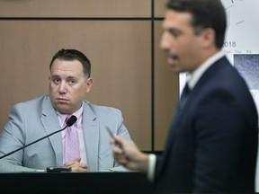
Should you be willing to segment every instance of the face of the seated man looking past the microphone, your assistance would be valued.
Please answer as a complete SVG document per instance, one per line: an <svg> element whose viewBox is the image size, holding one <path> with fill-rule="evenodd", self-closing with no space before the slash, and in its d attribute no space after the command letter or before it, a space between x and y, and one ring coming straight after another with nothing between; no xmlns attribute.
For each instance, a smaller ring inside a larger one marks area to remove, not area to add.
<svg viewBox="0 0 259 194"><path fill-rule="evenodd" d="M72 114L81 107L92 83L91 77L85 77L80 61L54 60L49 75L49 96L54 108Z"/></svg>

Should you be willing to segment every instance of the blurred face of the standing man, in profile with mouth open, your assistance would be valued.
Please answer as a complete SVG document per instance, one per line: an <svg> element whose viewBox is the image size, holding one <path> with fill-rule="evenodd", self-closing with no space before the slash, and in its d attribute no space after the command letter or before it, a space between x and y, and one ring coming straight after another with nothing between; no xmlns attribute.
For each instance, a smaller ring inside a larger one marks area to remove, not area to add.
<svg viewBox="0 0 259 194"><path fill-rule="evenodd" d="M161 48L168 54L167 63L175 73L192 72L201 65L201 36L194 34L191 20L190 13L165 13Z"/></svg>

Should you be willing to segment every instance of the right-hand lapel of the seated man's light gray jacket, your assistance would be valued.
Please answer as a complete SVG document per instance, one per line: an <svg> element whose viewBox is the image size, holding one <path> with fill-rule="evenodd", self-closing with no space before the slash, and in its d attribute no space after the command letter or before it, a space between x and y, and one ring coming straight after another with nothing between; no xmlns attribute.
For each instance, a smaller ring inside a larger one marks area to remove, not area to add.
<svg viewBox="0 0 259 194"><path fill-rule="evenodd" d="M87 163L91 172L98 171L100 122L87 102L84 104L83 131Z"/></svg>

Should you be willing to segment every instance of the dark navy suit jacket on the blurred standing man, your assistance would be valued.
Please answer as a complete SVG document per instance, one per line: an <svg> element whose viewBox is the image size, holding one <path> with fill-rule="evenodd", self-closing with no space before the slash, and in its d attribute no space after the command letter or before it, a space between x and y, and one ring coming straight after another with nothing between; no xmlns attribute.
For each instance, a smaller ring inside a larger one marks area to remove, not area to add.
<svg viewBox="0 0 259 194"><path fill-rule="evenodd" d="M176 111L157 157L157 193L253 193L257 130L252 95L222 57Z"/></svg>

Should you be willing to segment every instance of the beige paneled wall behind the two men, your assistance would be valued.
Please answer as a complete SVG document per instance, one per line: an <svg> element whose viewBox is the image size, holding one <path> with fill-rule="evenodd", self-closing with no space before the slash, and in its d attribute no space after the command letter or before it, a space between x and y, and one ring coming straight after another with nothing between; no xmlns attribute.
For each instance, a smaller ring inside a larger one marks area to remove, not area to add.
<svg viewBox="0 0 259 194"><path fill-rule="evenodd" d="M155 16L163 17L159 2ZM0 0L0 131L14 103L48 93L53 54L77 48L93 65L86 100L119 108L141 150L163 150L178 76L166 66L151 8L150 0Z"/></svg>

